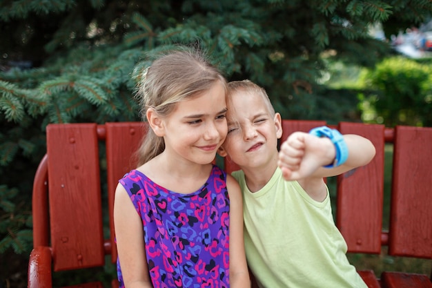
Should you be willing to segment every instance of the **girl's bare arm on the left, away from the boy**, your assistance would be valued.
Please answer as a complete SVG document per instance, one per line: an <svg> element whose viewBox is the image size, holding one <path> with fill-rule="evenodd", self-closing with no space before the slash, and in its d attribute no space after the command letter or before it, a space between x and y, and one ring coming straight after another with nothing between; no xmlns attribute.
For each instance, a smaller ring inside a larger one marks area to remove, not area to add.
<svg viewBox="0 0 432 288"><path fill-rule="evenodd" d="M115 191L114 227L125 287L153 287L148 273L141 218L121 184L117 184Z"/></svg>

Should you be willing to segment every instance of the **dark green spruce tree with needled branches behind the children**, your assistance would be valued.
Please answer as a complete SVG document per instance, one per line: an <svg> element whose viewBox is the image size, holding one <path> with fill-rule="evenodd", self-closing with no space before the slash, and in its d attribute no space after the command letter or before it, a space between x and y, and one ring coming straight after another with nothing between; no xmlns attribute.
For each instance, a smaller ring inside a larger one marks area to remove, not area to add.
<svg viewBox="0 0 432 288"><path fill-rule="evenodd" d="M390 49L369 25L393 32L431 12L429 0L1 1L0 279L26 285L46 125L138 120L135 84L157 52L201 46L284 118L361 121L356 90L322 84L327 61L374 68Z"/></svg>

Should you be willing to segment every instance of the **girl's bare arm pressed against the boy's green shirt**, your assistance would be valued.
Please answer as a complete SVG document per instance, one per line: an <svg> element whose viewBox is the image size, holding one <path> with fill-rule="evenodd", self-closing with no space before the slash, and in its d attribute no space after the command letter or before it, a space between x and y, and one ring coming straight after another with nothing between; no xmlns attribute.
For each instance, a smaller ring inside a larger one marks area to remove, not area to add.
<svg viewBox="0 0 432 288"><path fill-rule="evenodd" d="M243 239L243 200L237 181L226 175L230 197L230 287L251 287Z"/></svg>

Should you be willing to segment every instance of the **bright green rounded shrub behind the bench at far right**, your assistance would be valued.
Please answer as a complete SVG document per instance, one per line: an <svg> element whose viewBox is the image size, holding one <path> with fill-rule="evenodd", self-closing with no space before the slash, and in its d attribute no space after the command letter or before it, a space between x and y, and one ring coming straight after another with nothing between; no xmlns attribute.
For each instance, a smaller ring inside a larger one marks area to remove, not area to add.
<svg viewBox="0 0 432 288"><path fill-rule="evenodd" d="M360 81L366 91L360 95L364 121L432 126L432 68L427 62L391 57L365 70Z"/></svg>

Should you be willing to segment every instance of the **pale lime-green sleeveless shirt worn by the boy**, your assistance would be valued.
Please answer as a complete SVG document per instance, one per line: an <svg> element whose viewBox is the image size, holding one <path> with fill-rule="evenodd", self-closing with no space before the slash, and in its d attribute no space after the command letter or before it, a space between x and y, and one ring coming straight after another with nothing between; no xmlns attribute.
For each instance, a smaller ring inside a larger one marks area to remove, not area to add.
<svg viewBox="0 0 432 288"><path fill-rule="evenodd" d="M346 258L328 193L323 202L313 200L279 168L255 193L243 171L233 176L244 196L246 258L260 287L367 288Z"/></svg>

